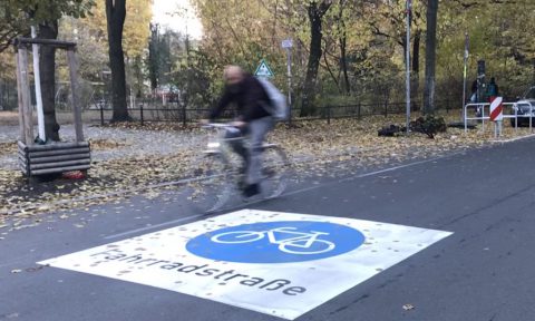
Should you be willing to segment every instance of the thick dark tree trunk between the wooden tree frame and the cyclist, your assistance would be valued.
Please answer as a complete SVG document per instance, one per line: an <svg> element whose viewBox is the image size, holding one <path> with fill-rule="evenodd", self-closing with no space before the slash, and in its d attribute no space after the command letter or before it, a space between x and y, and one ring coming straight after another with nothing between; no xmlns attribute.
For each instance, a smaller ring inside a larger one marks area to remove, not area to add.
<svg viewBox="0 0 535 321"><path fill-rule="evenodd" d="M126 0L106 0L108 26L109 67L111 69L111 121L128 121L126 105L125 52L123 51L123 28L126 18Z"/></svg>

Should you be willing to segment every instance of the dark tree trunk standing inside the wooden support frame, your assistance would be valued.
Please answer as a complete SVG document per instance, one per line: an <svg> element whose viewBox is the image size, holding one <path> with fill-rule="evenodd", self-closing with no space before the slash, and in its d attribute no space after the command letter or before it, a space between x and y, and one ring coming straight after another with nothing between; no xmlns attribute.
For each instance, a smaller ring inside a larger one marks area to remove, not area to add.
<svg viewBox="0 0 535 321"><path fill-rule="evenodd" d="M58 21L39 25L39 38L57 39ZM39 69L41 75L42 111L45 114L45 135L47 139L59 142L59 124L56 120L56 49L40 46Z"/></svg>

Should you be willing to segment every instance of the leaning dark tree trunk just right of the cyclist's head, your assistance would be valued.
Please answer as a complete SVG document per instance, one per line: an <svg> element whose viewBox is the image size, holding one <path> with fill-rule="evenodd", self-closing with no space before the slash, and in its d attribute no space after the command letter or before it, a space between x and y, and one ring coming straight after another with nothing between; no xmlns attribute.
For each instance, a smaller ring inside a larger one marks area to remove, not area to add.
<svg viewBox="0 0 535 321"><path fill-rule="evenodd" d="M303 96L301 98L301 116L303 117L313 115L315 111L315 106L313 106L311 101L314 99L318 68L320 66L320 59L322 55L321 39L323 35L321 30L321 23L323 14L325 14L327 10L329 10L329 7L331 7L331 1L324 0L319 7L314 1L311 2L308 8L311 40L307 76L303 86Z"/></svg>

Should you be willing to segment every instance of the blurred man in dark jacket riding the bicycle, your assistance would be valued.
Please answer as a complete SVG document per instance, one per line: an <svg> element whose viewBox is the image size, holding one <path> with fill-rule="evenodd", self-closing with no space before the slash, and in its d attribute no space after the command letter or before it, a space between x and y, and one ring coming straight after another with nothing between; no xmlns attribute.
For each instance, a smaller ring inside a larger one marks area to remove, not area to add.
<svg viewBox="0 0 535 321"><path fill-rule="evenodd" d="M237 107L237 115L232 121L235 129L227 130L225 138L230 139L233 150L243 158L245 185L242 192L245 197L251 197L260 193L262 144L275 123L268 111L271 100L262 84L239 66L227 66L223 78L225 80L223 95L208 118L213 120L231 104ZM204 119L201 123L206 124L208 120ZM249 148L243 144L243 139L232 139L244 136L249 137Z"/></svg>

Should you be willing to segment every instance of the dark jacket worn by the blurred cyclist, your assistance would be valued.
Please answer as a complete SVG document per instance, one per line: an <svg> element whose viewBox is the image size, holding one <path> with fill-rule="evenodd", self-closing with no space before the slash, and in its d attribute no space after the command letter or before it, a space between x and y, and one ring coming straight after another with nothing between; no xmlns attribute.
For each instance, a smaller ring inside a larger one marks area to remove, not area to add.
<svg viewBox="0 0 535 321"><path fill-rule="evenodd" d="M237 108L237 118L243 121L270 116L263 105L270 104L270 97L262 84L251 75L245 75L242 81L226 86L217 106L210 114L214 119L230 105L234 103Z"/></svg>

